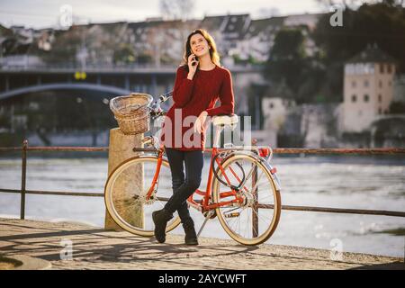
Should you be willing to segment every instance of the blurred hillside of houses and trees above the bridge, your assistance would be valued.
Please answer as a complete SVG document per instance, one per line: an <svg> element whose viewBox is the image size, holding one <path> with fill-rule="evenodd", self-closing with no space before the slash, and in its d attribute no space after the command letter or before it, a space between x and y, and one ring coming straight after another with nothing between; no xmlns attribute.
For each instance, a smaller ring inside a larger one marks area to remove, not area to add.
<svg viewBox="0 0 405 288"><path fill-rule="evenodd" d="M308 33L320 14L301 14L252 19L249 14L206 16L202 20L139 23L91 23L66 31L0 27L1 65L43 64L176 66L184 52L184 40L193 29L210 31L224 64L260 64L269 58L275 35L285 27ZM306 41L309 54L316 49Z"/></svg>

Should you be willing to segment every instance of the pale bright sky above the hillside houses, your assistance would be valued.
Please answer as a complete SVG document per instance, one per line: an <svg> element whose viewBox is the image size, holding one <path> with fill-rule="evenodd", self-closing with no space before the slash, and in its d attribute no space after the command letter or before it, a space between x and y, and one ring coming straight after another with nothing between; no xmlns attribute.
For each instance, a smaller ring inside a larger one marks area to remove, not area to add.
<svg viewBox="0 0 405 288"><path fill-rule="evenodd" d="M160 16L160 0L0 0L0 23L26 28L58 28L60 8L72 7L75 23L139 22ZM253 19L270 15L325 12L317 0L194 0L193 18L204 15L250 14Z"/></svg>

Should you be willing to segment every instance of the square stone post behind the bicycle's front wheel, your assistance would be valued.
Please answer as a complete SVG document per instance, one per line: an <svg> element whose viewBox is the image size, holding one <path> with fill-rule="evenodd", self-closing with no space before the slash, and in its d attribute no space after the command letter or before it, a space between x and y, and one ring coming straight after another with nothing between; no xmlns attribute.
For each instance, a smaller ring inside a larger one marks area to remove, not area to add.
<svg viewBox="0 0 405 288"><path fill-rule="evenodd" d="M108 175L112 174L115 167L119 166L122 161L134 157L137 153L132 151L132 148L141 148L141 140L143 133L136 135L125 135L119 128L110 130L110 145L108 151ZM132 169L126 170L126 173L120 176L114 184L114 193L119 197L133 195L134 191L143 189L143 170L142 166L134 166ZM123 203L123 202L122 202ZM133 203L133 202L132 202ZM117 205L121 206L121 205ZM143 227L143 209L142 207L130 207L122 205L121 211L118 211L122 218L129 221L136 227ZM104 229L122 230L105 211Z"/></svg>

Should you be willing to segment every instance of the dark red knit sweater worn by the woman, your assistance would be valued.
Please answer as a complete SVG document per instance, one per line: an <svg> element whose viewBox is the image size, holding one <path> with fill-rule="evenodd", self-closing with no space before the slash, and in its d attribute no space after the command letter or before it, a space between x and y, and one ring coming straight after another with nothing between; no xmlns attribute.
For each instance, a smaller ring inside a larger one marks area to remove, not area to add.
<svg viewBox="0 0 405 288"><path fill-rule="evenodd" d="M162 143L179 150L203 150L206 131L193 132L196 117L202 111L208 116L228 115L234 112L232 77L228 69L215 66L212 70L195 72L187 79L185 66L178 67L173 90L174 104L166 114L161 133ZM220 99L220 106L214 108ZM192 116L188 117L187 116Z"/></svg>

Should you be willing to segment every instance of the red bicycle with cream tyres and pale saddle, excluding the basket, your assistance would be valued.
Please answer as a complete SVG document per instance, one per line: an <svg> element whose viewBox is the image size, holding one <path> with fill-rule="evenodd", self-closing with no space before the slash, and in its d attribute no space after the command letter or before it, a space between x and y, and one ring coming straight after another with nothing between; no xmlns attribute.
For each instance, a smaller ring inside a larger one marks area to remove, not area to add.
<svg viewBox="0 0 405 288"><path fill-rule="evenodd" d="M160 108L171 94L163 94L149 108L153 120L162 119ZM237 115L212 117L215 127L206 190L197 189L187 200L202 212L205 220L218 217L229 236L244 245L265 242L275 232L281 214L280 183L269 162L273 151L268 146L219 148L225 127L235 129ZM154 136L145 137L144 148L117 166L108 177L104 200L112 219L130 233L153 236L152 211L162 209L172 191L171 172L164 157L165 148ZM180 224L178 215L167 223L166 232Z"/></svg>

